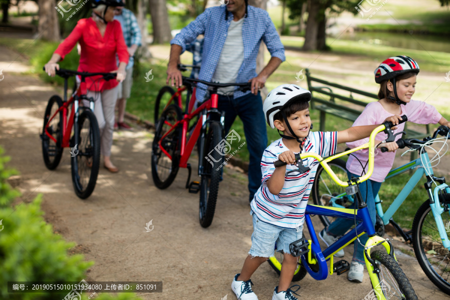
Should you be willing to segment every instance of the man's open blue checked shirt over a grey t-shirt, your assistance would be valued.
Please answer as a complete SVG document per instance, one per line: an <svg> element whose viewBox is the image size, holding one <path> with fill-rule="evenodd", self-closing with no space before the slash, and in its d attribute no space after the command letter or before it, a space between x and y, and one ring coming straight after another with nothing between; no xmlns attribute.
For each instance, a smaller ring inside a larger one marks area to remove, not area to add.
<svg viewBox="0 0 450 300"><path fill-rule="evenodd" d="M225 13L228 19L225 20ZM195 20L175 35L170 44L177 44L182 47L182 52L186 50L186 45L191 43L199 34L204 34L203 55L198 78L210 81L220 58L223 44L225 43L229 24L233 19L231 12L226 11L225 6L214 6L204 10ZM244 47L244 59L239 68L236 82L247 82L256 77L256 56L261 40L267 46L272 57L285 60L284 46L279 39L267 11L261 8L248 5L247 17L242 24L242 39ZM196 98L204 99L207 86L202 83L197 84ZM246 93L235 91L234 97L243 96Z"/></svg>

